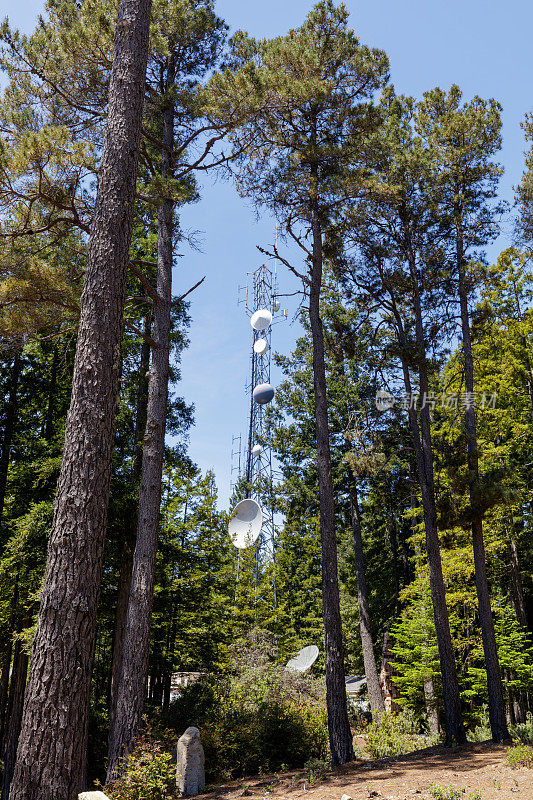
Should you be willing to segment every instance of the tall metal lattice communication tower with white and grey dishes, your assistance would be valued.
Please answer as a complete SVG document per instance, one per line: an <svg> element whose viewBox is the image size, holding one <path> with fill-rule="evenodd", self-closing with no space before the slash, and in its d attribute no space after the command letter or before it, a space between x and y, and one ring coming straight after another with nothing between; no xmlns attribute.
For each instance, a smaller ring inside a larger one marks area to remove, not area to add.
<svg viewBox="0 0 533 800"><path fill-rule="evenodd" d="M272 452L266 445L266 408L274 397L270 383L272 325L280 310L275 271L263 264L249 272L243 291L239 302L250 319L252 336L250 378L245 387L250 397L250 411L242 471L240 437L234 437L234 443L239 441L239 483L246 487L247 497L234 509L230 535L240 549L257 542L259 568L275 559Z"/></svg>

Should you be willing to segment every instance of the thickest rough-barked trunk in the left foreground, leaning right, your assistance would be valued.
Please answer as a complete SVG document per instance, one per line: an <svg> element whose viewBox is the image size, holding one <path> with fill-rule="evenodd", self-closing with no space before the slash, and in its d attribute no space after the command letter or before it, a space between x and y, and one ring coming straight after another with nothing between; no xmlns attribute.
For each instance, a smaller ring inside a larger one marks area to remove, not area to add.
<svg viewBox="0 0 533 800"><path fill-rule="evenodd" d="M120 0L65 446L10 800L83 788L151 0Z"/></svg>

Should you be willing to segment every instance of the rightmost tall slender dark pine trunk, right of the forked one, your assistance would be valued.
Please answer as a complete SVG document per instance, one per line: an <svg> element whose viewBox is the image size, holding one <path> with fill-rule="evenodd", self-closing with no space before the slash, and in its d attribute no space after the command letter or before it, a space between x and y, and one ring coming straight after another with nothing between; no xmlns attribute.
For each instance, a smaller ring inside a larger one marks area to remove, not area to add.
<svg viewBox="0 0 533 800"><path fill-rule="evenodd" d="M461 333L463 339L464 374L465 374L465 427L467 437L468 482L470 489L470 509L472 513L472 547L474 550L474 570L476 591L481 625L485 669L487 672L487 692L489 698L489 720L493 742L502 742L509 738L505 716L500 662L492 609L490 605L489 582L487 579L487 563L485 544L483 541L483 509L479 504L479 460L476 433L476 407L474 402L474 359L470 336L470 319L468 312L468 289L466 286L465 264L463 255L462 231L460 223L457 229L457 270L458 291L461 310Z"/></svg>

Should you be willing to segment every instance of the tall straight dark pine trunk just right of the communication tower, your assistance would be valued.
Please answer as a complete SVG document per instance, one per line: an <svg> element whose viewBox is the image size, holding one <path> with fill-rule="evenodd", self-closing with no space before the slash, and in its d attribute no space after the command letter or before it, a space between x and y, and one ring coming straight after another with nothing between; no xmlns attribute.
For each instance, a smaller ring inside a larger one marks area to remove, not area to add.
<svg viewBox="0 0 533 800"><path fill-rule="evenodd" d="M344 648L337 573L337 537L335 533L335 504L329 446L324 331L320 318L322 231L316 201L311 205L311 217L313 258L309 290L309 321L313 340L313 383L320 500L320 538L322 545L322 613L324 618L326 662L326 702L331 758L335 765L351 761L354 758L354 752L346 701Z"/></svg>

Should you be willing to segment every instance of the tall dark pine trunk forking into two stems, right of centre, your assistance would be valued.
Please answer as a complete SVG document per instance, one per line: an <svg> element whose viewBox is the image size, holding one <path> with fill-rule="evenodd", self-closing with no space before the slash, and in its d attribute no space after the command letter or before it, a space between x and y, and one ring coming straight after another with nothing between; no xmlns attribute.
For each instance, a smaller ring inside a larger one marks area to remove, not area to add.
<svg viewBox="0 0 533 800"><path fill-rule="evenodd" d="M422 326L422 311L416 278L416 267L412 261L410 262L409 266L411 271L414 299L420 392L422 395L426 393L427 397L429 381ZM410 399L413 397L413 389L411 385L411 376L409 373L407 339L400 314L396 308L394 309L394 316L396 320L398 343L400 345L405 391ZM466 742L466 734L463 727L459 681L457 679L455 655L450 631L450 620L448 616L448 608L446 606L446 589L444 586L444 576L442 574L442 560L440 554L439 535L437 531L437 510L435 506L435 487L433 476L433 447L431 442L431 419L429 415L430 409L427 403L423 404L423 406L424 407L420 412L420 426L418 423L418 416L412 402L409 402L408 420L415 454L420 493L422 496L424 528L426 531L426 553L428 559L429 585L442 675L444 727L446 732L445 744L451 746L453 744L462 744L463 742Z"/></svg>

